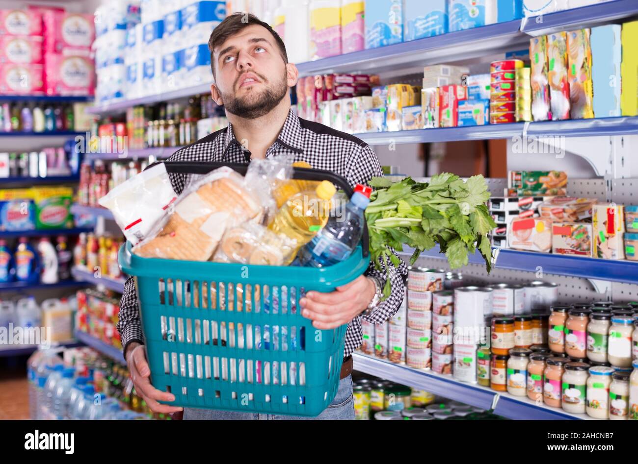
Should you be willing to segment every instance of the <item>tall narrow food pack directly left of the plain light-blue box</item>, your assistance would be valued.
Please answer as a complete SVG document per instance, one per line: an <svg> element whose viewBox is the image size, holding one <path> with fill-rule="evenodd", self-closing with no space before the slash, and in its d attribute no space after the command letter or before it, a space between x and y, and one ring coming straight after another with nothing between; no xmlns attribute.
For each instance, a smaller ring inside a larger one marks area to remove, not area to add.
<svg viewBox="0 0 638 464"><path fill-rule="evenodd" d="M594 117L590 34L590 29L578 29L567 33L572 119Z"/></svg>

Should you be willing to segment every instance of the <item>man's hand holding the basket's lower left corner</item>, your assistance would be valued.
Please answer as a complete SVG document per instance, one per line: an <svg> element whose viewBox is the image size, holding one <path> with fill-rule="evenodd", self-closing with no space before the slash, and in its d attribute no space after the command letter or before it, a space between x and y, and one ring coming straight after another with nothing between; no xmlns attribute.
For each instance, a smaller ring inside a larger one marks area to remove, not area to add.
<svg viewBox="0 0 638 464"><path fill-rule="evenodd" d="M182 407L167 406L158 403L158 401L175 401L175 396L165 391L160 391L151 385L151 369L146 359L144 345L137 342L131 342L126 347L126 365L131 373L135 391L142 397L152 412L161 414L170 414L171 412L179 412L184 410Z"/></svg>

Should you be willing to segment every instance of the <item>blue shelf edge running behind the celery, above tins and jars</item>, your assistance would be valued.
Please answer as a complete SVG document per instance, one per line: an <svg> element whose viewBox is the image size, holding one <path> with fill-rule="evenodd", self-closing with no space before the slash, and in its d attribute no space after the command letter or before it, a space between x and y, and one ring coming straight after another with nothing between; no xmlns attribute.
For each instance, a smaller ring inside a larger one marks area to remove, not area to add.
<svg viewBox="0 0 638 464"><path fill-rule="evenodd" d="M413 249L406 247L401 253L411 256ZM625 284L638 284L638 261L597 259L590 257L568 256L551 253L536 253L508 249L496 249L494 268L515 271L536 272L538 266L547 274L580 277L581 279L608 280ZM421 253L436 259L446 259L438 245ZM469 257L470 264L484 265L485 261L479 252Z"/></svg>

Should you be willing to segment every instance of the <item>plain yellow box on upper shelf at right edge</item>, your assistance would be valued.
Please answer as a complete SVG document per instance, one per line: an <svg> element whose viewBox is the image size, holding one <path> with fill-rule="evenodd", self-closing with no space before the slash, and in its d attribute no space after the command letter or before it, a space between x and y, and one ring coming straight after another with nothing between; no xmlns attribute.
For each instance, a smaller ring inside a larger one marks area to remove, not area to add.
<svg viewBox="0 0 638 464"><path fill-rule="evenodd" d="M638 116L638 21L623 23L621 34L623 62L620 67L622 94L620 106L623 116Z"/></svg>

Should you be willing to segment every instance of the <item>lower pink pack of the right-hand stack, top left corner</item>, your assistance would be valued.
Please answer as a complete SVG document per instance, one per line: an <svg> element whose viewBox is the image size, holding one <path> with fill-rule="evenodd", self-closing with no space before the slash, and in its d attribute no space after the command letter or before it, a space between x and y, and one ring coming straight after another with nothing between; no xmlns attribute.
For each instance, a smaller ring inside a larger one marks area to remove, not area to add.
<svg viewBox="0 0 638 464"><path fill-rule="evenodd" d="M94 94L93 60L78 55L45 54L47 95L86 96Z"/></svg>

